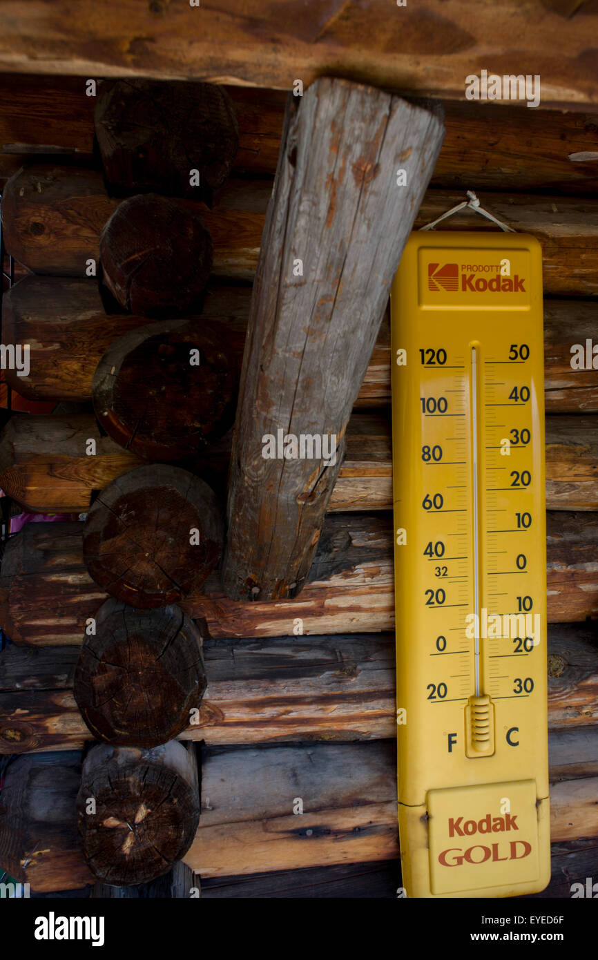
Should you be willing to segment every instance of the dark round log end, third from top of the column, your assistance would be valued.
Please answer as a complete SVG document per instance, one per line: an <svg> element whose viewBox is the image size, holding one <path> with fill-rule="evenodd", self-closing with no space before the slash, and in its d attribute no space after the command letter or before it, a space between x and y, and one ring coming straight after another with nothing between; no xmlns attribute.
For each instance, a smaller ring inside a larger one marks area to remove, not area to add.
<svg viewBox="0 0 598 960"><path fill-rule="evenodd" d="M227 331L199 319L150 324L114 341L93 377L96 416L148 460L196 456L234 420L237 367Z"/></svg>

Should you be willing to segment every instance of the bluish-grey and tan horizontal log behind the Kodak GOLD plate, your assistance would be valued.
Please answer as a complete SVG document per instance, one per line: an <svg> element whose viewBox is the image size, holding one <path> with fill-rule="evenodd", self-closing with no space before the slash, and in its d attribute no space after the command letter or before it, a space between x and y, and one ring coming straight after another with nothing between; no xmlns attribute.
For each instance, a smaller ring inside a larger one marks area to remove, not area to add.
<svg viewBox="0 0 598 960"><path fill-rule="evenodd" d="M560 735L553 734L551 744ZM596 728L591 735L595 756ZM571 745L568 738L563 749ZM70 752L18 757L7 771L0 856L34 891L89 882L73 816L80 770L81 754ZM595 851L593 771L590 761L587 769L580 764L575 779L551 776L551 835L562 845L560 867L571 853ZM394 741L203 751L200 826L183 858L203 878L397 857Z"/></svg>

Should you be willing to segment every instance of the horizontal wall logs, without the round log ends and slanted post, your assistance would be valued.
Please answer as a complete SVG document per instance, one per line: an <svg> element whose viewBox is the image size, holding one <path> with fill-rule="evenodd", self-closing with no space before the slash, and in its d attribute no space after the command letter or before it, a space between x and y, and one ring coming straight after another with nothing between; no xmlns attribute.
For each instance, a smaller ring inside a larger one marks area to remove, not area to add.
<svg viewBox="0 0 598 960"><path fill-rule="evenodd" d="M550 29L555 16L547 14ZM118 73L117 60L107 75ZM565 54L563 75L566 62ZM259 79L257 66L250 73ZM14 85L0 75L0 91ZM14 177L5 195L7 244L22 258L19 276L38 272L5 299L3 342L31 344L30 375L8 374L12 387L33 399L88 402L101 355L117 336L148 323L103 302L97 277L84 276L120 200L108 195L93 156L94 103L83 89L83 78L39 84L30 78L0 117L0 184ZM212 234L216 277L202 316L227 324L238 371L285 94L243 87L228 92L239 120L233 178L211 209L180 203L201 209ZM588 94L571 94L569 87L566 96L579 106ZM595 152L598 127L591 112L444 106L444 146L416 227L474 188L482 204L533 233L543 248L553 880L540 896L569 897L571 882L595 874L598 855L598 369L571 367L573 345L596 339L598 180L595 163L570 158ZM18 174L23 162L27 170ZM484 228L469 213L451 226ZM116 312L107 313L107 305ZM201 323L197 315L195 321ZM199 722L180 733L205 744L202 816L185 857L185 869L202 875L203 897L299 896L301 889L315 896L395 897L400 885L389 367L387 319L300 596L285 603L232 601L214 573L181 603L203 636L207 675ZM76 509L85 510L108 482L104 474L85 476L72 454L59 464L56 444L52 462L36 460L41 472L23 480L22 469L14 473L14 449L7 475L21 492L36 489L36 500L22 498L35 510L60 509L56 492L61 485L63 496L73 479L83 491ZM228 449L225 439L216 468L223 487ZM131 454L120 450L119 456ZM68 813L81 773L79 752L89 737L73 682L86 622L107 594L85 569L82 527L26 527L9 543L0 577L0 626L15 641L0 653L0 753L27 754L19 763L31 764L24 772L16 768L11 804L21 804L18 783L29 782L37 765L42 785L63 789L66 804L60 804L60 826L52 835L42 836L33 812L28 824L14 814L21 847L0 833L0 867L14 864L16 872L20 864L34 889L46 891L78 890L92 880ZM302 817L293 812L298 796L308 799ZM39 836L41 853L35 849Z"/></svg>

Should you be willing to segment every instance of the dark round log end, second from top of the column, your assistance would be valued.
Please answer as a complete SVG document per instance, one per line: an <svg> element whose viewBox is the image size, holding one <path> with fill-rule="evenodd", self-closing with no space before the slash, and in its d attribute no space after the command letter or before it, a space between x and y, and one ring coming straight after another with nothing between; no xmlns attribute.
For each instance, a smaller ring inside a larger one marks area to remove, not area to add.
<svg viewBox="0 0 598 960"><path fill-rule="evenodd" d="M199 304L212 238L193 205L155 193L120 204L100 237L104 283L125 310L157 317Z"/></svg>

